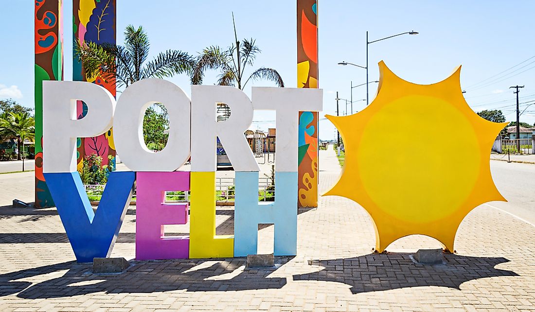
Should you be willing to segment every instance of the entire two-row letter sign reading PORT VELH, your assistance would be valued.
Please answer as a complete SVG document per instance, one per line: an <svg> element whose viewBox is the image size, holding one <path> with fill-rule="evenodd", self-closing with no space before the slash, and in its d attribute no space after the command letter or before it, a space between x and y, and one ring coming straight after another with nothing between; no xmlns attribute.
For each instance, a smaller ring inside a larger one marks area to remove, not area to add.
<svg viewBox="0 0 535 312"><path fill-rule="evenodd" d="M233 87L194 85L192 105L177 85L146 79L130 85L117 108L110 92L88 82L45 82L43 96L44 135L50 138L43 150L44 175L78 261L110 255L136 178L136 259L254 254L259 223L275 224L275 254L296 254L297 115L299 111L320 111L322 90L253 88L251 103L243 91ZM77 119L79 101L87 106L81 119ZM142 127L144 112L155 103L166 106L170 127L169 141L157 153L145 145ZM223 122L216 119L218 103L231 109L230 118ZM276 111L279 129L277 200L267 205L258 203L259 168L244 136L253 120L253 107ZM94 213L77 172L76 140L101 135L112 124L115 147L125 165L137 174L113 171ZM217 138L236 170L235 239L216 235ZM175 171L189 159L190 150L192 171ZM188 205L166 202L165 192L189 190L190 235L166 236L165 225L188 222Z"/></svg>

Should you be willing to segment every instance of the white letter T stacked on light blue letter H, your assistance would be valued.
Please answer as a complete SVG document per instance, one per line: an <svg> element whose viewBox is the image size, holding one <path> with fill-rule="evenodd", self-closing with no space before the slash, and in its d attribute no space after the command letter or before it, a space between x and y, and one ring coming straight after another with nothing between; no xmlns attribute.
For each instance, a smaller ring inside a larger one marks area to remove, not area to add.
<svg viewBox="0 0 535 312"><path fill-rule="evenodd" d="M236 172L234 255L257 253L259 223L275 227L274 254L297 252L297 115L322 110L323 90L253 88L257 110L274 110L277 119L275 202L258 204L258 171Z"/></svg>

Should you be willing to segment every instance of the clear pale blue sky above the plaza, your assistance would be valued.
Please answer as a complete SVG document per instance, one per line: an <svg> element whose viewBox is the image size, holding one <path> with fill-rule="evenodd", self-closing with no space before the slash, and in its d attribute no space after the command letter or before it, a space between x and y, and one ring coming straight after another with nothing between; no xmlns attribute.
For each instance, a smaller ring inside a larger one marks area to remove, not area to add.
<svg viewBox="0 0 535 312"><path fill-rule="evenodd" d="M13 98L34 106L34 2L0 0L0 99ZM71 19L72 3L66 0L64 18ZM123 41L127 25L142 25L151 40L150 57L167 49L196 54L210 45L233 42L232 12L239 38L255 38L262 53L249 73L259 67L277 69L287 87L296 87L295 1L250 0L179 1L117 0L117 40ZM350 83L366 82L362 68L337 65L342 60L365 66L366 30L369 40L415 30L369 45L369 80L379 79L377 63L384 60L394 73L414 83L430 84L448 77L462 65L461 86L467 103L476 112L501 109L507 121L516 120L516 95L521 89L521 121L535 122L535 2L515 1L324 1L318 0L319 88L324 90L319 137L334 139L336 130L325 114L336 115L336 92L350 98ZM64 42L72 42L70 23L64 23ZM72 46L65 44L65 80L72 80ZM208 72L205 84L216 81ZM189 77L167 80L190 94ZM255 81L250 87L274 86ZM370 84L370 103L377 83ZM365 107L364 86L353 89L353 112ZM346 102L340 101L340 114ZM351 113L350 106L347 109ZM275 126L274 113L255 113L251 129Z"/></svg>

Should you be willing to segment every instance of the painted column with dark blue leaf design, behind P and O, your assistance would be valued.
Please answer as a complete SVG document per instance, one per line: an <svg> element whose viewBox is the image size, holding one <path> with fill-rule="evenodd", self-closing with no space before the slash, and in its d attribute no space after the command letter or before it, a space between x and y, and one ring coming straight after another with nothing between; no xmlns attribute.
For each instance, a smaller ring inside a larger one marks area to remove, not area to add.
<svg viewBox="0 0 535 312"><path fill-rule="evenodd" d="M74 52L76 41L95 42L97 44L116 43L116 0L73 0L73 81L93 82L106 88L116 96L114 80L104 80L101 76L86 79L82 64ZM87 106L82 101L77 105L78 119L87 113ZM93 138L78 138L78 169L83 166L83 158L96 153L102 157L102 165L108 165L108 155L113 156L112 165L115 166L115 146L113 131L110 129L103 135Z"/></svg>

